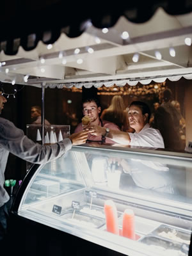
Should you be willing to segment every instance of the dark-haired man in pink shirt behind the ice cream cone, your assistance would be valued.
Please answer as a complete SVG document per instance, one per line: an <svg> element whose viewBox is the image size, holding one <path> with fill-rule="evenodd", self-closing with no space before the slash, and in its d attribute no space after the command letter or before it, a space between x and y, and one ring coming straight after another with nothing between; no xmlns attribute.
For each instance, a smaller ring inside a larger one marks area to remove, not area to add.
<svg viewBox="0 0 192 256"><path fill-rule="evenodd" d="M88 140L86 143L108 143L108 144L114 144L115 142L111 140L110 138L106 138L106 133L108 132L108 129L113 129L115 131L119 131L120 129L116 124L113 124L112 122L108 122L106 120L100 119L100 102L97 98L88 98L83 100L83 115L88 116L90 118L90 127L93 125L97 125L99 127L102 127L104 129L103 134L88 134ZM86 127L83 127L82 122L77 125L75 132L83 131L83 129L86 129Z"/></svg>

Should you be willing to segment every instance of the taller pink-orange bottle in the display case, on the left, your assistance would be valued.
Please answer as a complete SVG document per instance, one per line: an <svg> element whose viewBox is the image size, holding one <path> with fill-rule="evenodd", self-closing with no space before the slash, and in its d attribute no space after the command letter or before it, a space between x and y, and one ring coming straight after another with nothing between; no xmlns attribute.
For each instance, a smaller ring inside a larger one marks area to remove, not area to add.
<svg viewBox="0 0 192 256"><path fill-rule="evenodd" d="M119 235L118 215L116 206L112 200L106 200L104 204L104 212L106 214L106 227L108 232Z"/></svg>

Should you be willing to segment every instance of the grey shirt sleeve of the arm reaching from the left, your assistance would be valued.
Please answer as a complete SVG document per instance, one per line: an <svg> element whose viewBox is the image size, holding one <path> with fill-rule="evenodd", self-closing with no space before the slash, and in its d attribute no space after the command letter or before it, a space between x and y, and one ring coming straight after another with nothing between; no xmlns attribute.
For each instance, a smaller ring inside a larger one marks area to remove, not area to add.
<svg viewBox="0 0 192 256"><path fill-rule="evenodd" d="M68 138L52 145L35 143L8 120L0 124L0 145L13 155L37 164L44 164L47 161L54 160L65 154L72 147L72 143Z"/></svg>

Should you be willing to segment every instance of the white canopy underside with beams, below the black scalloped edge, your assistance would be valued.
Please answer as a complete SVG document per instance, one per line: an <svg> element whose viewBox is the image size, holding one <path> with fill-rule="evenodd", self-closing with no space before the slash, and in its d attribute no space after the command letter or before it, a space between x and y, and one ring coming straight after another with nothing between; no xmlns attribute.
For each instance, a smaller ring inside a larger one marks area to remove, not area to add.
<svg viewBox="0 0 192 256"><path fill-rule="evenodd" d="M52 45L38 42L32 51L19 47L15 56L1 51L0 80L50 88L99 88L103 84L134 86L138 82L192 79L192 13L170 16L159 8L142 24L120 17L107 33L90 22L84 26L85 32L76 38L61 33ZM129 37L123 39L125 31ZM35 37L28 39L32 44ZM138 54L137 62L132 60L134 54Z"/></svg>

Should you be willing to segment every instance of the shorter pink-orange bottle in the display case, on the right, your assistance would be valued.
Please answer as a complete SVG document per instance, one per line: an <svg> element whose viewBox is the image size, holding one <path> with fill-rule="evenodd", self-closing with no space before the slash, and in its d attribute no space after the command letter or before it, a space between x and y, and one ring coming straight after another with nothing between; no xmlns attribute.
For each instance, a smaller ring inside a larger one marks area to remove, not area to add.
<svg viewBox="0 0 192 256"><path fill-rule="evenodd" d="M132 240L136 239L134 212L131 209L126 209L123 214L122 236Z"/></svg>

